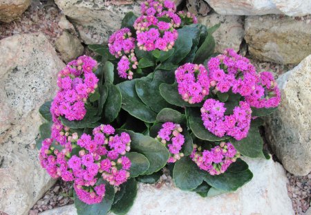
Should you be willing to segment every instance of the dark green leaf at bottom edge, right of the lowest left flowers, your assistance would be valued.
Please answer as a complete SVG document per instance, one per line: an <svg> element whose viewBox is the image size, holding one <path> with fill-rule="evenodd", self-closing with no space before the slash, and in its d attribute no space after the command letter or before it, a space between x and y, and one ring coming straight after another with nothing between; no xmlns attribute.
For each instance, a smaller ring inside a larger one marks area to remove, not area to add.
<svg viewBox="0 0 311 215"><path fill-rule="evenodd" d="M137 183L135 178L127 180L125 184L121 185L121 189L125 190L122 198L111 207L111 211L118 215L126 214L133 206L137 195Z"/></svg>

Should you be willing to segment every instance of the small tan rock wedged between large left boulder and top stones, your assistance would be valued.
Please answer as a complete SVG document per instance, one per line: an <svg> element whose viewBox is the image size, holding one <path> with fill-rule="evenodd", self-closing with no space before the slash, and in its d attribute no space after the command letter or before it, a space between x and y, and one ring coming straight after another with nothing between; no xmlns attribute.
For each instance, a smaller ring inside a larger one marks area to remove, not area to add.
<svg viewBox="0 0 311 215"><path fill-rule="evenodd" d="M82 55L84 50L79 39L67 31L56 40L55 46L66 63Z"/></svg>

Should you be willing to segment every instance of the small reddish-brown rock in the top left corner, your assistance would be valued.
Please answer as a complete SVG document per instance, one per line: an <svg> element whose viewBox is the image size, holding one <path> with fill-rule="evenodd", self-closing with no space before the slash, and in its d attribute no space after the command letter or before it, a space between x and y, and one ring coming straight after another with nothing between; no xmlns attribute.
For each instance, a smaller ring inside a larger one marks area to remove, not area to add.
<svg viewBox="0 0 311 215"><path fill-rule="evenodd" d="M18 19L30 6L31 0L0 0L0 21L9 23Z"/></svg>

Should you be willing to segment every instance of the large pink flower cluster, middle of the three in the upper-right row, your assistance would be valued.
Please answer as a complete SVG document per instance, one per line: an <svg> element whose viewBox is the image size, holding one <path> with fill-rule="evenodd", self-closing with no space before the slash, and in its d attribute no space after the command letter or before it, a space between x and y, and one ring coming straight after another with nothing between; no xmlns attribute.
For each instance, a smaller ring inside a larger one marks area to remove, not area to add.
<svg viewBox="0 0 311 215"><path fill-rule="evenodd" d="M211 86L216 86L221 93L231 89L233 93L247 96L255 89L258 80L256 68L249 59L238 55L233 49L226 49L223 55L211 57L207 67Z"/></svg>

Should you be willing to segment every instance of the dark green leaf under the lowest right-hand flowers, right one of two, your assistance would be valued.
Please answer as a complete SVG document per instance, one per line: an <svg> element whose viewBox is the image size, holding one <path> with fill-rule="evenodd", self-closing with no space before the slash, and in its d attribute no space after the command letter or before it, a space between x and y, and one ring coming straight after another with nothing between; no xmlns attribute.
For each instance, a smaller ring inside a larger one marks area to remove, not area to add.
<svg viewBox="0 0 311 215"><path fill-rule="evenodd" d="M252 171L247 169L246 171L237 173L226 171L224 174L218 176L207 174L204 180L211 185L211 187L216 189L223 191L236 191L236 189L248 183L252 178Z"/></svg>

